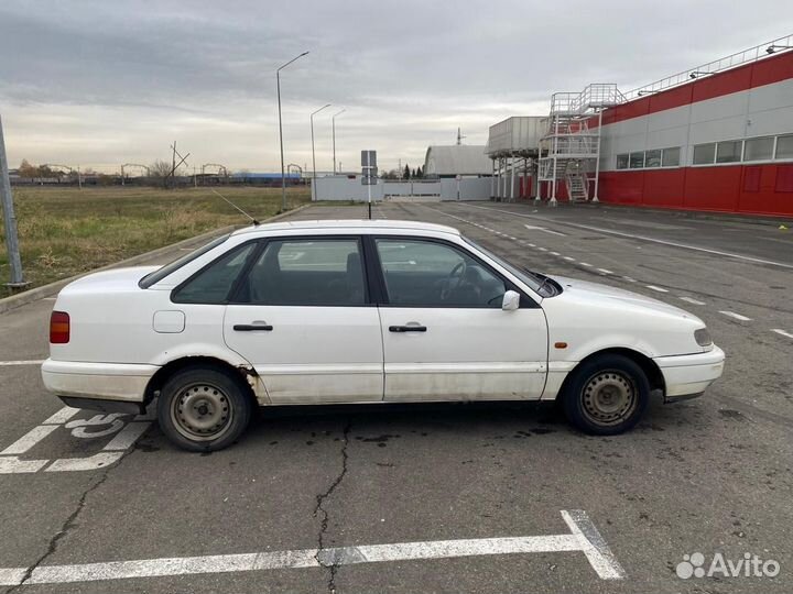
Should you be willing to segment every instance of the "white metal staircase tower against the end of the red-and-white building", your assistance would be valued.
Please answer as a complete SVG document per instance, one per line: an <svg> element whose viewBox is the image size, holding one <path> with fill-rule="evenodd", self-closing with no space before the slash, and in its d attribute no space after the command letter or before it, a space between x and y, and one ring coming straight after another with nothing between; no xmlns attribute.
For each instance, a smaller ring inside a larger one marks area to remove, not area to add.
<svg viewBox="0 0 793 594"><path fill-rule="evenodd" d="M589 199L589 173L597 174L600 158L600 124L602 110L626 99L617 85L595 84L582 92L556 92L551 97L551 112L545 119L546 132L540 140L537 179L550 182L550 204L556 205L557 182L565 180L571 201ZM596 130L589 121L598 119Z"/></svg>

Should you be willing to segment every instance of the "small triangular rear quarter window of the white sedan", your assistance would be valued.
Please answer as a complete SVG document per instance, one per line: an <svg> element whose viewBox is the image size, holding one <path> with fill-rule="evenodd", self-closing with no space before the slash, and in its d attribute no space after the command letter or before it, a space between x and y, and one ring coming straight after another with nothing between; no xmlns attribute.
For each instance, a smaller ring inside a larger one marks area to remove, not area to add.
<svg viewBox="0 0 793 594"><path fill-rule="evenodd" d="M220 256L178 287L172 297L177 304L222 304L245 267L256 243L240 245Z"/></svg>

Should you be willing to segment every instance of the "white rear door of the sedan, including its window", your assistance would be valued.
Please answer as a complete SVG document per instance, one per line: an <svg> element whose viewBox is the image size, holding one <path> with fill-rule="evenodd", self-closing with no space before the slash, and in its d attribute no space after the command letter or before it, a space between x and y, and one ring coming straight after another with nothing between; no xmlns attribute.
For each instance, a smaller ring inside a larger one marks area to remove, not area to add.
<svg viewBox="0 0 793 594"><path fill-rule="evenodd" d="M380 320L358 237L269 240L226 308L224 338L273 404L379 402Z"/></svg>

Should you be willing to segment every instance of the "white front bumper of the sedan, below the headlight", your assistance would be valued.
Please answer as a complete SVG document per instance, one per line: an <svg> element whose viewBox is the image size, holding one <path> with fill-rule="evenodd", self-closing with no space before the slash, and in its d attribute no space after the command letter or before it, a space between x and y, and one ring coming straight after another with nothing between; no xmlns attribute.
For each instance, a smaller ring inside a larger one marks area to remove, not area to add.
<svg viewBox="0 0 793 594"><path fill-rule="evenodd" d="M714 348L706 353L653 359L664 377L664 402L687 400L700 396L724 372L725 353Z"/></svg>

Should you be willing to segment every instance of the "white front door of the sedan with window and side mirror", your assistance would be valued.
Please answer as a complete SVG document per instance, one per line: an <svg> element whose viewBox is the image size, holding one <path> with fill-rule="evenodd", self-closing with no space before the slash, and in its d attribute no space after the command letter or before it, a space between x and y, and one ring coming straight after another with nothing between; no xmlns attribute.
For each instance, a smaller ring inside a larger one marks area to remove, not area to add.
<svg viewBox="0 0 793 594"><path fill-rule="evenodd" d="M539 399L547 327L530 304L501 309L509 288L460 246L374 240L387 293L380 308L387 400Z"/></svg>

